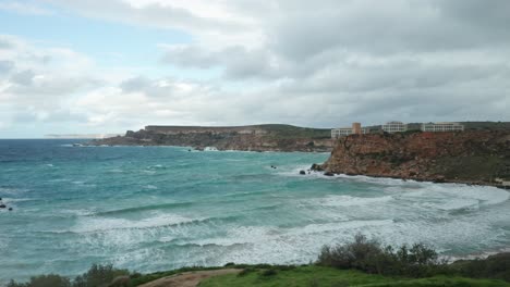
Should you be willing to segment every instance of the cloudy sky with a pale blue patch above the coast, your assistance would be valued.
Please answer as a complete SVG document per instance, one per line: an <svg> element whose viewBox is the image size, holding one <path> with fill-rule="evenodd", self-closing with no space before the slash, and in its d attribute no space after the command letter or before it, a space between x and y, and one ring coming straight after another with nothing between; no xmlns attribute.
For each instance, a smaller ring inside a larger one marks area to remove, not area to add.
<svg viewBox="0 0 510 287"><path fill-rule="evenodd" d="M0 138L510 121L508 0L0 0Z"/></svg>

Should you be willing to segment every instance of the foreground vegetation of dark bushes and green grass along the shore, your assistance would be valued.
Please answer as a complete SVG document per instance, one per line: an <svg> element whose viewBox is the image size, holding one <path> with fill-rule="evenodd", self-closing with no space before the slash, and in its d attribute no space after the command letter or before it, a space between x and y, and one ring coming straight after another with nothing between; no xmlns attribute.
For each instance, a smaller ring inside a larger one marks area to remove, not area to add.
<svg viewBox="0 0 510 287"><path fill-rule="evenodd" d="M242 271L236 275L208 278L199 286L510 287L510 253L447 264L425 245L385 247L363 235L356 235L344 245L324 247L315 264L248 265L231 262L223 267ZM112 265L95 264L74 280L50 274L32 277L27 283L11 280L8 287L130 287L183 272L223 267L183 267L141 275Z"/></svg>

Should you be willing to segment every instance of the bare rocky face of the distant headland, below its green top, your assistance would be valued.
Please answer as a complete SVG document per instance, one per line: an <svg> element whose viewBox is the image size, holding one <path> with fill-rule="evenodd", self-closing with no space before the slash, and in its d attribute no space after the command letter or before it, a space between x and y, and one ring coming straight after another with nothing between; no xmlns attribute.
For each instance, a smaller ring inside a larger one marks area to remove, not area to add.
<svg viewBox="0 0 510 287"><path fill-rule="evenodd" d="M123 137L113 137L93 141L92 145L111 146L184 146L195 149L215 147L218 150L243 151L314 151L329 152L333 140L330 138L293 137L272 130L254 129L223 130L182 130L180 133L160 133L159 130L141 129L127 132Z"/></svg>

